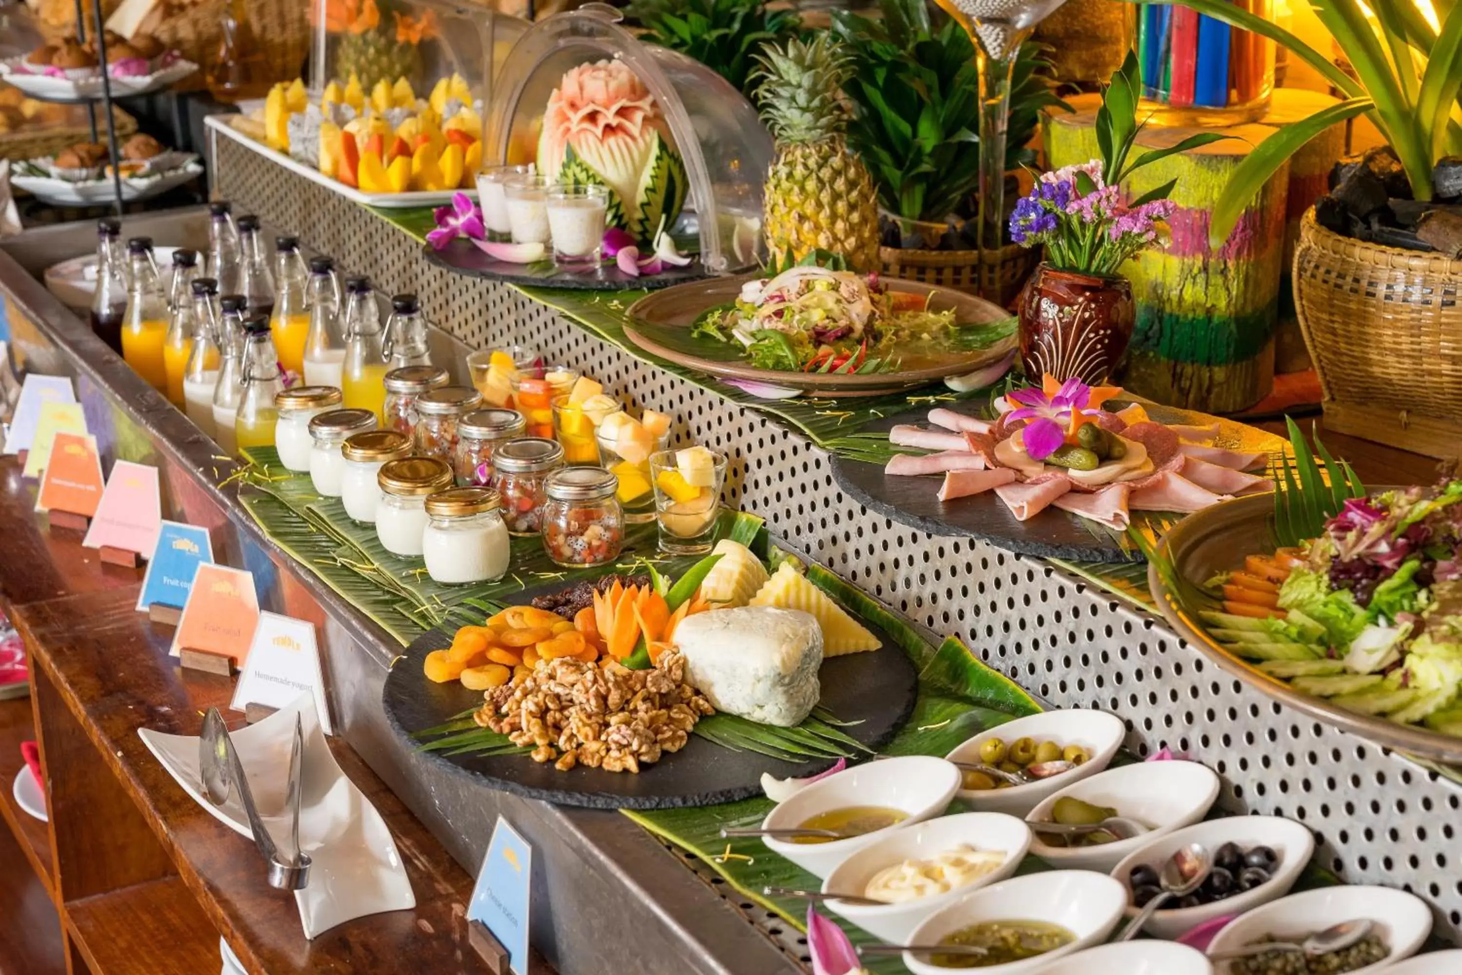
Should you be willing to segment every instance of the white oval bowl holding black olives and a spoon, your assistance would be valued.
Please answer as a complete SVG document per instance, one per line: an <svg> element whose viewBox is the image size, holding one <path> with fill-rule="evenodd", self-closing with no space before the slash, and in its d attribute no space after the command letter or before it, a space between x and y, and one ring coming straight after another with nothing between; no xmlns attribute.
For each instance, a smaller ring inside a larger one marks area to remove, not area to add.
<svg viewBox="0 0 1462 975"><path fill-rule="evenodd" d="M1161 870L1174 851L1189 843L1202 843L1208 846L1209 852L1216 852L1224 843L1238 843L1246 851L1251 846L1269 846L1279 857L1279 865L1269 877L1269 883L1235 893L1225 900L1196 908L1159 908L1143 928L1148 934L1171 940L1213 918L1243 914L1262 903L1276 900L1289 893L1289 887L1300 879L1300 871L1314 854L1314 835L1304 824L1278 816L1225 816L1184 826L1143 843L1113 868L1111 876L1123 887L1127 887L1129 918L1137 917L1137 908L1132 906L1132 889L1127 884L1127 874L1132 868L1137 864L1148 864L1154 870Z"/></svg>

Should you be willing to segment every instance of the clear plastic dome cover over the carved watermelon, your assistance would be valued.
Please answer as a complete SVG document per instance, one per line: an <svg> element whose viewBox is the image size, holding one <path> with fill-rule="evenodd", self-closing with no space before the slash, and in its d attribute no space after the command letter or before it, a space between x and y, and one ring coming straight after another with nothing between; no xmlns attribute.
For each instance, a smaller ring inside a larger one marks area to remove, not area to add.
<svg viewBox="0 0 1462 975"><path fill-rule="evenodd" d="M482 164L537 164L611 190L611 222L649 243L664 222L708 270L762 259L772 137L705 64L635 38L604 4L529 28L497 73Z"/></svg>

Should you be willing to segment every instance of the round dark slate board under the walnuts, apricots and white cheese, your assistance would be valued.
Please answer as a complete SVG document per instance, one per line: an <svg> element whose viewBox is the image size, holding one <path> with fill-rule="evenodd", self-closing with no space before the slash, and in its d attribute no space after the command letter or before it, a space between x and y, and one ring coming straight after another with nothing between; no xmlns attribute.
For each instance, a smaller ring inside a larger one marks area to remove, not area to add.
<svg viewBox="0 0 1462 975"><path fill-rule="evenodd" d="M520 601L561 589L563 583L528 589ZM908 655L883 630L860 620L883 646L868 653L848 653L823 661L822 705L839 721L860 722L842 728L870 748L887 743L914 712L918 675ZM481 706L482 693L462 684L434 684L421 671L431 650L452 645L452 631L431 630L405 649L386 677L382 703L392 729L409 747L417 747L411 732L433 728L471 707ZM526 754L444 756L424 753L428 760L449 766L493 789L528 798L582 805L586 808L658 810L686 805L734 803L762 794L762 773L775 778L807 776L823 772L832 760L791 763L756 754L731 751L694 734L684 748L665 754L639 775L605 772L577 766L558 772L553 763L538 763Z"/></svg>

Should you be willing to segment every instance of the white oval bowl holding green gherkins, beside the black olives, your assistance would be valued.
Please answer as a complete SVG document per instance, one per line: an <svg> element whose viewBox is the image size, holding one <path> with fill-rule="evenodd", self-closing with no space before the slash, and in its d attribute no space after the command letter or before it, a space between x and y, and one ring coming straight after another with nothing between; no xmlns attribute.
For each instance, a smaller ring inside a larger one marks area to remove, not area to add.
<svg viewBox="0 0 1462 975"><path fill-rule="evenodd" d="M1037 835L1031 839L1031 854L1057 868L1107 873L1139 846L1208 816L1218 786L1218 773L1197 762L1139 762L1107 769L1045 797L1025 817L1031 829L1051 820L1057 800L1072 797L1116 808L1118 816L1146 823L1152 830L1116 843L1077 848L1047 846Z"/></svg>

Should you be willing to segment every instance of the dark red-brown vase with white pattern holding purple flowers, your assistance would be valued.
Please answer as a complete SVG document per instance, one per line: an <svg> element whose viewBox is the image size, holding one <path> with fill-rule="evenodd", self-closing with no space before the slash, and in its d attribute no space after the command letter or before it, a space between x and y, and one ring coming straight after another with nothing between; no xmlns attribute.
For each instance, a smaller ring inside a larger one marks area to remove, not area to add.
<svg viewBox="0 0 1462 975"><path fill-rule="evenodd" d="M1121 276L1057 270L1042 263L1020 292L1020 364L1032 382L1105 382L1132 341L1137 307Z"/></svg>

